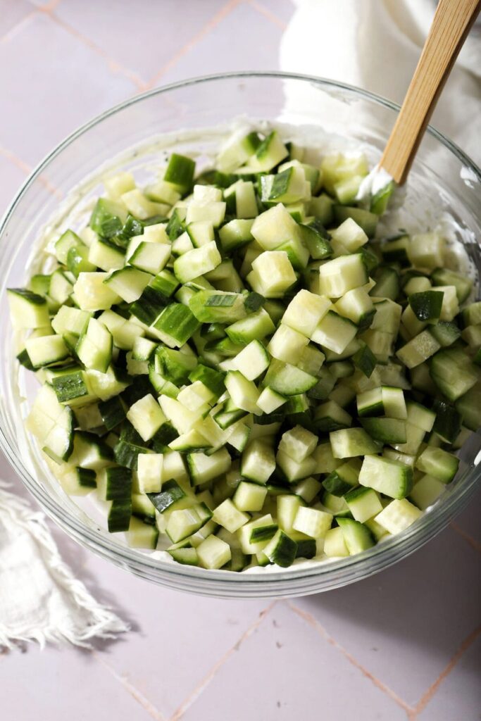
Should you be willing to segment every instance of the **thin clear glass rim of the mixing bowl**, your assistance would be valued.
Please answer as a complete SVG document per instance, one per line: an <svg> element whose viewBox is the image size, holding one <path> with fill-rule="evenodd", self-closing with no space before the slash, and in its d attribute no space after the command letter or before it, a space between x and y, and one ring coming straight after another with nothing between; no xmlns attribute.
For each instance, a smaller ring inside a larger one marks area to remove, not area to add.
<svg viewBox="0 0 481 721"><path fill-rule="evenodd" d="M37 164L32 170L30 175L27 177L25 182L21 185L17 194L14 195L13 200L7 206L4 216L0 219L0 239L4 232L5 226L9 219L15 212L19 201L25 195L27 190L30 188L33 182L37 180L43 171L48 167L48 164L59 156L67 146L74 142L77 138L81 137L89 129L94 128L95 125L101 123L102 120L110 118L125 108L131 107L141 103L149 97L167 93L171 90L180 89L183 87L191 87L203 83L221 80L239 80L239 79L279 79L279 80L294 80L304 81L312 83L318 86L320 89L340 89L341 91L347 91L353 95L357 95L363 99L367 99L374 102L377 105L387 107L389 110L399 112L400 105L392 102L389 99L381 97L378 94L370 92L365 89L358 88L356 86L346 84L340 81L330 80L327 78L310 76L308 74L298 73L286 73L283 71L234 71L221 74L209 74L205 76L198 76L187 80L177 81L162 87L156 87L146 92L136 94L133 97L129 97L123 102L110 107L100 115L95 116L92 120L79 126L74 132L70 133L69 136L63 139L58 145L50 151L45 157ZM443 133L438 131L433 125L428 125L426 132L440 142L443 146L451 151L456 158L464 164L464 166L471 169L477 177L477 182L481 183L481 169L475 164L472 159L467 156L464 151L459 148L456 143L451 141L449 138L444 136ZM177 579L179 585L172 583L172 588L178 588L182 590L182 582L191 580L193 583L200 584L200 588L184 588L183 590L196 591L198 593L209 593L209 590L219 590L219 585L225 588L231 585L236 590L241 591L240 586L244 586L245 590L254 589L254 593L262 588L265 588L269 595L272 596L275 591L281 591L282 585L288 585L291 581L300 580L302 578L313 578L316 577L319 582L323 577L333 573L337 574L337 582L326 585L327 588L335 588L338 585L345 585L345 583L351 583L357 578L366 578L367 575L381 570L397 560L407 557L408 554L414 552L425 542L430 540L433 536L438 534L448 523L451 521L459 510L462 510L464 505L467 504L469 497L475 492L475 485L481 478L481 472L473 474L469 482L465 482L463 487L456 492L452 492L441 506L437 506L432 513L428 513L423 516L425 523L418 525L414 523L413 526L408 528L402 534L392 536L379 544L376 544L371 549L368 549L362 553L348 556L345 559L337 559L329 562L322 562L313 565L304 566L291 566L286 570L268 570L268 567L263 568L260 573L238 573L238 572L226 572L225 570L206 570L198 567L190 567L187 565L175 564L175 562L167 562L162 559L152 558L148 554L141 555L135 549L129 547L120 546L119 544L112 543L108 536L102 531L97 531L95 528L91 528L84 523L81 523L75 516L66 513L65 509L61 508L50 495L43 492L42 487L37 483L35 477L33 477L26 469L24 469L14 456L13 449L9 444L8 439L4 433L3 425L0 424L0 449L4 452L6 459L14 468L14 471L19 474L24 485L32 493L40 506L45 510L50 518L53 518L58 526L61 526L67 534L74 537L84 547L88 547L93 552L100 554L102 557L108 558L115 562L117 565L127 566L131 571L142 575L150 580L160 580L161 583L166 581L166 577L169 576ZM389 550L392 554L389 555ZM397 552L397 553L396 553ZM379 562L381 560L381 562ZM376 564L376 561L378 563ZM151 572L151 575L145 575L146 571ZM339 575L345 570L351 570L352 576L348 579L340 579ZM157 578L156 578L157 577ZM208 586L211 583L211 588L203 589L202 586ZM254 588L257 587L257 588ZM299 588L302 591L301 588ZM315 593L319 590L324 590L315 585L310 590L304 590L304 593ZM293 591L291 590L291 593ZM294 591L295 593L295 591ZM242 593L242 596L248 594Z"/></svg>

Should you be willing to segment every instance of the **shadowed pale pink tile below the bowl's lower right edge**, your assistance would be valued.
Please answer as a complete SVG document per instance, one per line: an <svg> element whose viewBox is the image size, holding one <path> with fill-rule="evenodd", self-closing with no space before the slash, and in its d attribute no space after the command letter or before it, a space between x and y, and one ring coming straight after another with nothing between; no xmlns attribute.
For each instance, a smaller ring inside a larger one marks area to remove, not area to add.
<svg viewBox="0 0 481 721"><path fill-rule="evenodd" d="M480 622L480 590L479 554L447 529L384 572L294 603L414 705Z"/></svg>

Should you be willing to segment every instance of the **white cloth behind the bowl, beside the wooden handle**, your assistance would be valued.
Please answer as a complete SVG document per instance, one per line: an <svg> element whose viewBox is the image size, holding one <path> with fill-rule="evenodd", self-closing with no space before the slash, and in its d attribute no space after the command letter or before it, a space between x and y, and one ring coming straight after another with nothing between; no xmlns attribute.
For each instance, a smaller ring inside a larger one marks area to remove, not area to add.
<svg viewBox="0 0 481 721"><path fill-rule="evenodd" d="M402 102L436 0L294 0L281 68L357 85ZM478 23L481 21L478 21ZM431 122L481 163L481 28L462 48Z"/></svg>

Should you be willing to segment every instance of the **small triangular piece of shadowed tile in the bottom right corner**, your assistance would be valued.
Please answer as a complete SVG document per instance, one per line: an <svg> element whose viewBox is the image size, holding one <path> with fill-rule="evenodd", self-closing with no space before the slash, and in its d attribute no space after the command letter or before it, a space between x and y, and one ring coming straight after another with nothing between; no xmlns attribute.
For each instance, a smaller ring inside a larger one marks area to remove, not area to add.
<svg viewBox="0 0 481 721"><path fill-rule="evenodd" d="M462 655L436 689L418 721L479 721L481 718L481 637Z"/></svg>

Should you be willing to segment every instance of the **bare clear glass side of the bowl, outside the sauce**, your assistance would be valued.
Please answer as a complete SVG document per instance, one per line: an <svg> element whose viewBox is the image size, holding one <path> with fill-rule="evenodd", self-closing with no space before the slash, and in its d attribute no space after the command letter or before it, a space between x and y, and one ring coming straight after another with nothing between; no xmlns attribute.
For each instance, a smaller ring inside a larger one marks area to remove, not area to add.
<svg viewBox="0 0 481 721"><path fill-rule="evenodd" d="M267 88L272 88L272 97L266 97ZM378 149L389 133L389 118L394 122L399 109L389 101L344 84L281 73L234 73L193 79L150 91L112 108L72 133L39 164L1 221L0 243L4 252L0 257L0 326L6 328L8 324L4 290L6 286L19 285L25 280L25 255L30 255L30 260L35 257L39 223L50 221L56 212L58 193L70 193L93 171L97 160L107 161L109 154L121 154L128 143L135 145L142 139L145 141L152 128L157 132L175 132L182 121L192 123L190 127L198 129L215 115L222 116L221 120L227 122L246 108L253 117L276 120L282 112L286 115L293 92L296 98L303 97L306 103L312 97L306 117L312 118L312 107L318 107L317 112L322 118L320 109L322 102L326 102L330 112L339 112L340 124L344 123L345 128L357 133L361 140L373 141ZM213 108L214 98L217 98L216 108ZM350 117L353 105L362 116L363 124L359 128L354 127ZM370 114L374 118L372 127L369 125ZM301 121L301 107L296 107L295 118ZM335 118L331 118L331 122L335 124ZM481 232L480 169L434 128L428 129L426 144L426 158L429 159L431 152L437 156L441 170L449 169L449 182L446 180L449 192L443 202L449 205L460 223L472 231L475 239L475 234ZM418 167L428 185L440 176L436 167L431 171L426 158L420 157ZM467 171L464 177L463 169ZM18 242L19 237L21 242ZM474 255L477 248L474 240ZM2 345L1 359L0 448L45 513L84 547L136 575L170 588L219 597L279 597L306 595L353 583L399 561L441 531L469 503L480 479L475 460L481 443L480 437L475 435L465 454L471 467L464 465L462 477L446 493L443 502L404 534L363 554L275 572L265 568L260 573L238 574L182 567L119 544L99 525L86 522L86 517L76 510L73 502L67 502L61 493L49 487L40 456L35 456L35 452L32 454L31 448L25 450L29 445L22 413L25 414L25 398L30 394L30 386L25 381L21 381L19 389L15 386L17 364L12 342Z"/></svg>

